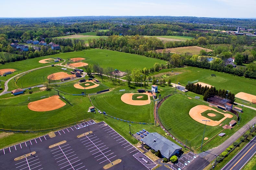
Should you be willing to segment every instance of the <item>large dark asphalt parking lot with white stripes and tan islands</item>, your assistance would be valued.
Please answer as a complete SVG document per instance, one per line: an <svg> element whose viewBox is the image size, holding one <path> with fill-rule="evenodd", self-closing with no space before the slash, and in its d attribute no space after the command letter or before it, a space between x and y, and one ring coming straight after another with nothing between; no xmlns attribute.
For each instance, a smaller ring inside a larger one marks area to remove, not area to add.
<svg viewBox="0 0 256 170"><path fill-rule="evenodd" d="M1 170L151 170L156 164L105 122L93 120L0 150Z"/></svg>

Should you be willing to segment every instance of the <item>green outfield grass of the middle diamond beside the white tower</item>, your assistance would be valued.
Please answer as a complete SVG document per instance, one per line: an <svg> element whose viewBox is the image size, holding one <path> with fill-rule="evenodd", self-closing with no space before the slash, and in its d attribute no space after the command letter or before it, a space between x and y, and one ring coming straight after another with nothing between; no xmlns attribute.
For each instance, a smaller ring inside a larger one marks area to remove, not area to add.
<svg viewBox="0 0 256 170"><path fill-rule="evenodd" d="M128 105L121 100L123 94L112 91L90 97L93 105L100 111L105 111L107 115L128 121L154 123L153 102L142 106Z"/></svg>

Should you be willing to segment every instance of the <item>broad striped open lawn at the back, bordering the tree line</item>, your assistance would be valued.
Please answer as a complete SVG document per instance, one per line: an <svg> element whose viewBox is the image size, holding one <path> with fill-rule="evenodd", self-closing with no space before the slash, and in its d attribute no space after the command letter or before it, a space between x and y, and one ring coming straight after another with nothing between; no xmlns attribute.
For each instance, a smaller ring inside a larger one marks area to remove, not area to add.
<svg viewBox="0 0 256 170"><path fill-rule="evenodd" d="M50 55L50 57L60 57L64 59L82 57L86 59L83 61L85 63L91 65L99 64L103 68L112 67L113 69L118 69L121 71L132 70L134 68L150 68L155 63L166 64L166 61L156 58L102 49L90 49L79 52L62 53Z"/></svg>

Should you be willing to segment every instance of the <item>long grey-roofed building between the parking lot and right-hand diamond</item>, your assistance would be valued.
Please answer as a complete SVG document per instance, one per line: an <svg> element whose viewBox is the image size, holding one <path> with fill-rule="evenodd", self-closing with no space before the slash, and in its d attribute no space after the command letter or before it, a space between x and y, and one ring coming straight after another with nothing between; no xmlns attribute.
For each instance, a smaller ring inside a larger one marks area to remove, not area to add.
<svg viewBox="0 0 256 170"><path fill-rule="evenodd" d="M158 133L149 133L144 137L143 142L155 151L160 150L162 156L167 159L173 155L179 155L179 151L182 149L182 147Z"/></svg>

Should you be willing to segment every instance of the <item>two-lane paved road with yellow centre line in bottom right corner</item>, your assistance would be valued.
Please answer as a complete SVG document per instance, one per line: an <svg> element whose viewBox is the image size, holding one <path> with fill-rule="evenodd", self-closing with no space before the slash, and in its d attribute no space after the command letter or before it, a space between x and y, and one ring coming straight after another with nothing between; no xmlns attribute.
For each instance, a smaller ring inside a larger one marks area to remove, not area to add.
<svg viewBox="0 0 256 170"><path fill-rule="evenodd" d="M256 136L221 170L240 170L256 153Z"/></svg>

